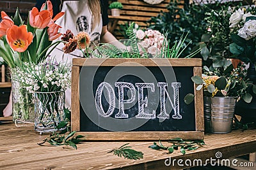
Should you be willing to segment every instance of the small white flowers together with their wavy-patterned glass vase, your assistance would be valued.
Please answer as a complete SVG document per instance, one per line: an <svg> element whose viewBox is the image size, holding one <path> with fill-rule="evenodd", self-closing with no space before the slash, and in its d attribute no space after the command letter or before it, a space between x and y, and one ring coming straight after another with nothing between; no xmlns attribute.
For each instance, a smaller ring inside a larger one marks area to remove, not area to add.
<svg viewBox="0 0 256 170"><path fill-rule="evenodd" d="M35 94L36 131L56 131L65 119L65 90L70 87L71 67L47 58L39 64L25 62L18 73L22 87Z"/></svg>

